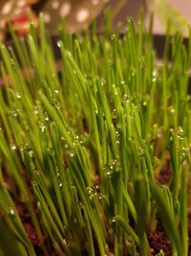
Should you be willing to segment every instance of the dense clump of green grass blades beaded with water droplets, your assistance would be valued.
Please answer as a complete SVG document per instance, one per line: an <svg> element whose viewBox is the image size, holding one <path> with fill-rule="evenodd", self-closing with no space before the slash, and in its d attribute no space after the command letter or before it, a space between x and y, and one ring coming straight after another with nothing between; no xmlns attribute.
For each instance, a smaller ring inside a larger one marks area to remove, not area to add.
<svg viewBox="0 0 191 256"><path fill-rule="evenodd" d="M107 23L107 22L106 22ZM108 24L108 23L107 23ZM37 255L18 215L29 213L42 254L151 254L157 221L172 255L188 254L191 101L188 48L169 39L159 66L140 15L126 33L68 35L56 65L40 18L16 51L0 46L0 242L6 255ZM107 29L108 28L108 29ZM166 156L170 155L167 162ZM163 166L172 176L159 185ZM12 244L12 246L10 246ZM12 252L13 251L13 252ZM162 252L161 252L162 253Z"/></svg>

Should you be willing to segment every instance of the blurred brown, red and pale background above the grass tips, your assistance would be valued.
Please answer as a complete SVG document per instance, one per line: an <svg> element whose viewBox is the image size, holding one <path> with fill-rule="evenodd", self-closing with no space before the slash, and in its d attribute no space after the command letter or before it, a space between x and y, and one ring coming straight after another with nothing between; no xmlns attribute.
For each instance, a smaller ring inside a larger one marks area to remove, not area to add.
<svg viewBox="0 0 191 256"><path fill-rule="evenodd" d="M165 31L167 20L172 20L172 32L180 30L187 34L191 24L190 0L0 0L0 40L9 38L8 22L11 22L17 35L25 35L30 23L38 26L38 14L44 12L44 21L51 34L57 34L62 18L67 30L75 33L87 29L96 18L99 31L103 28L103 13L110 7L114 28L133 16L138 21L138 12L145 12L145 23L149 22L150 12L155 13L154 33Z"/></svg>

